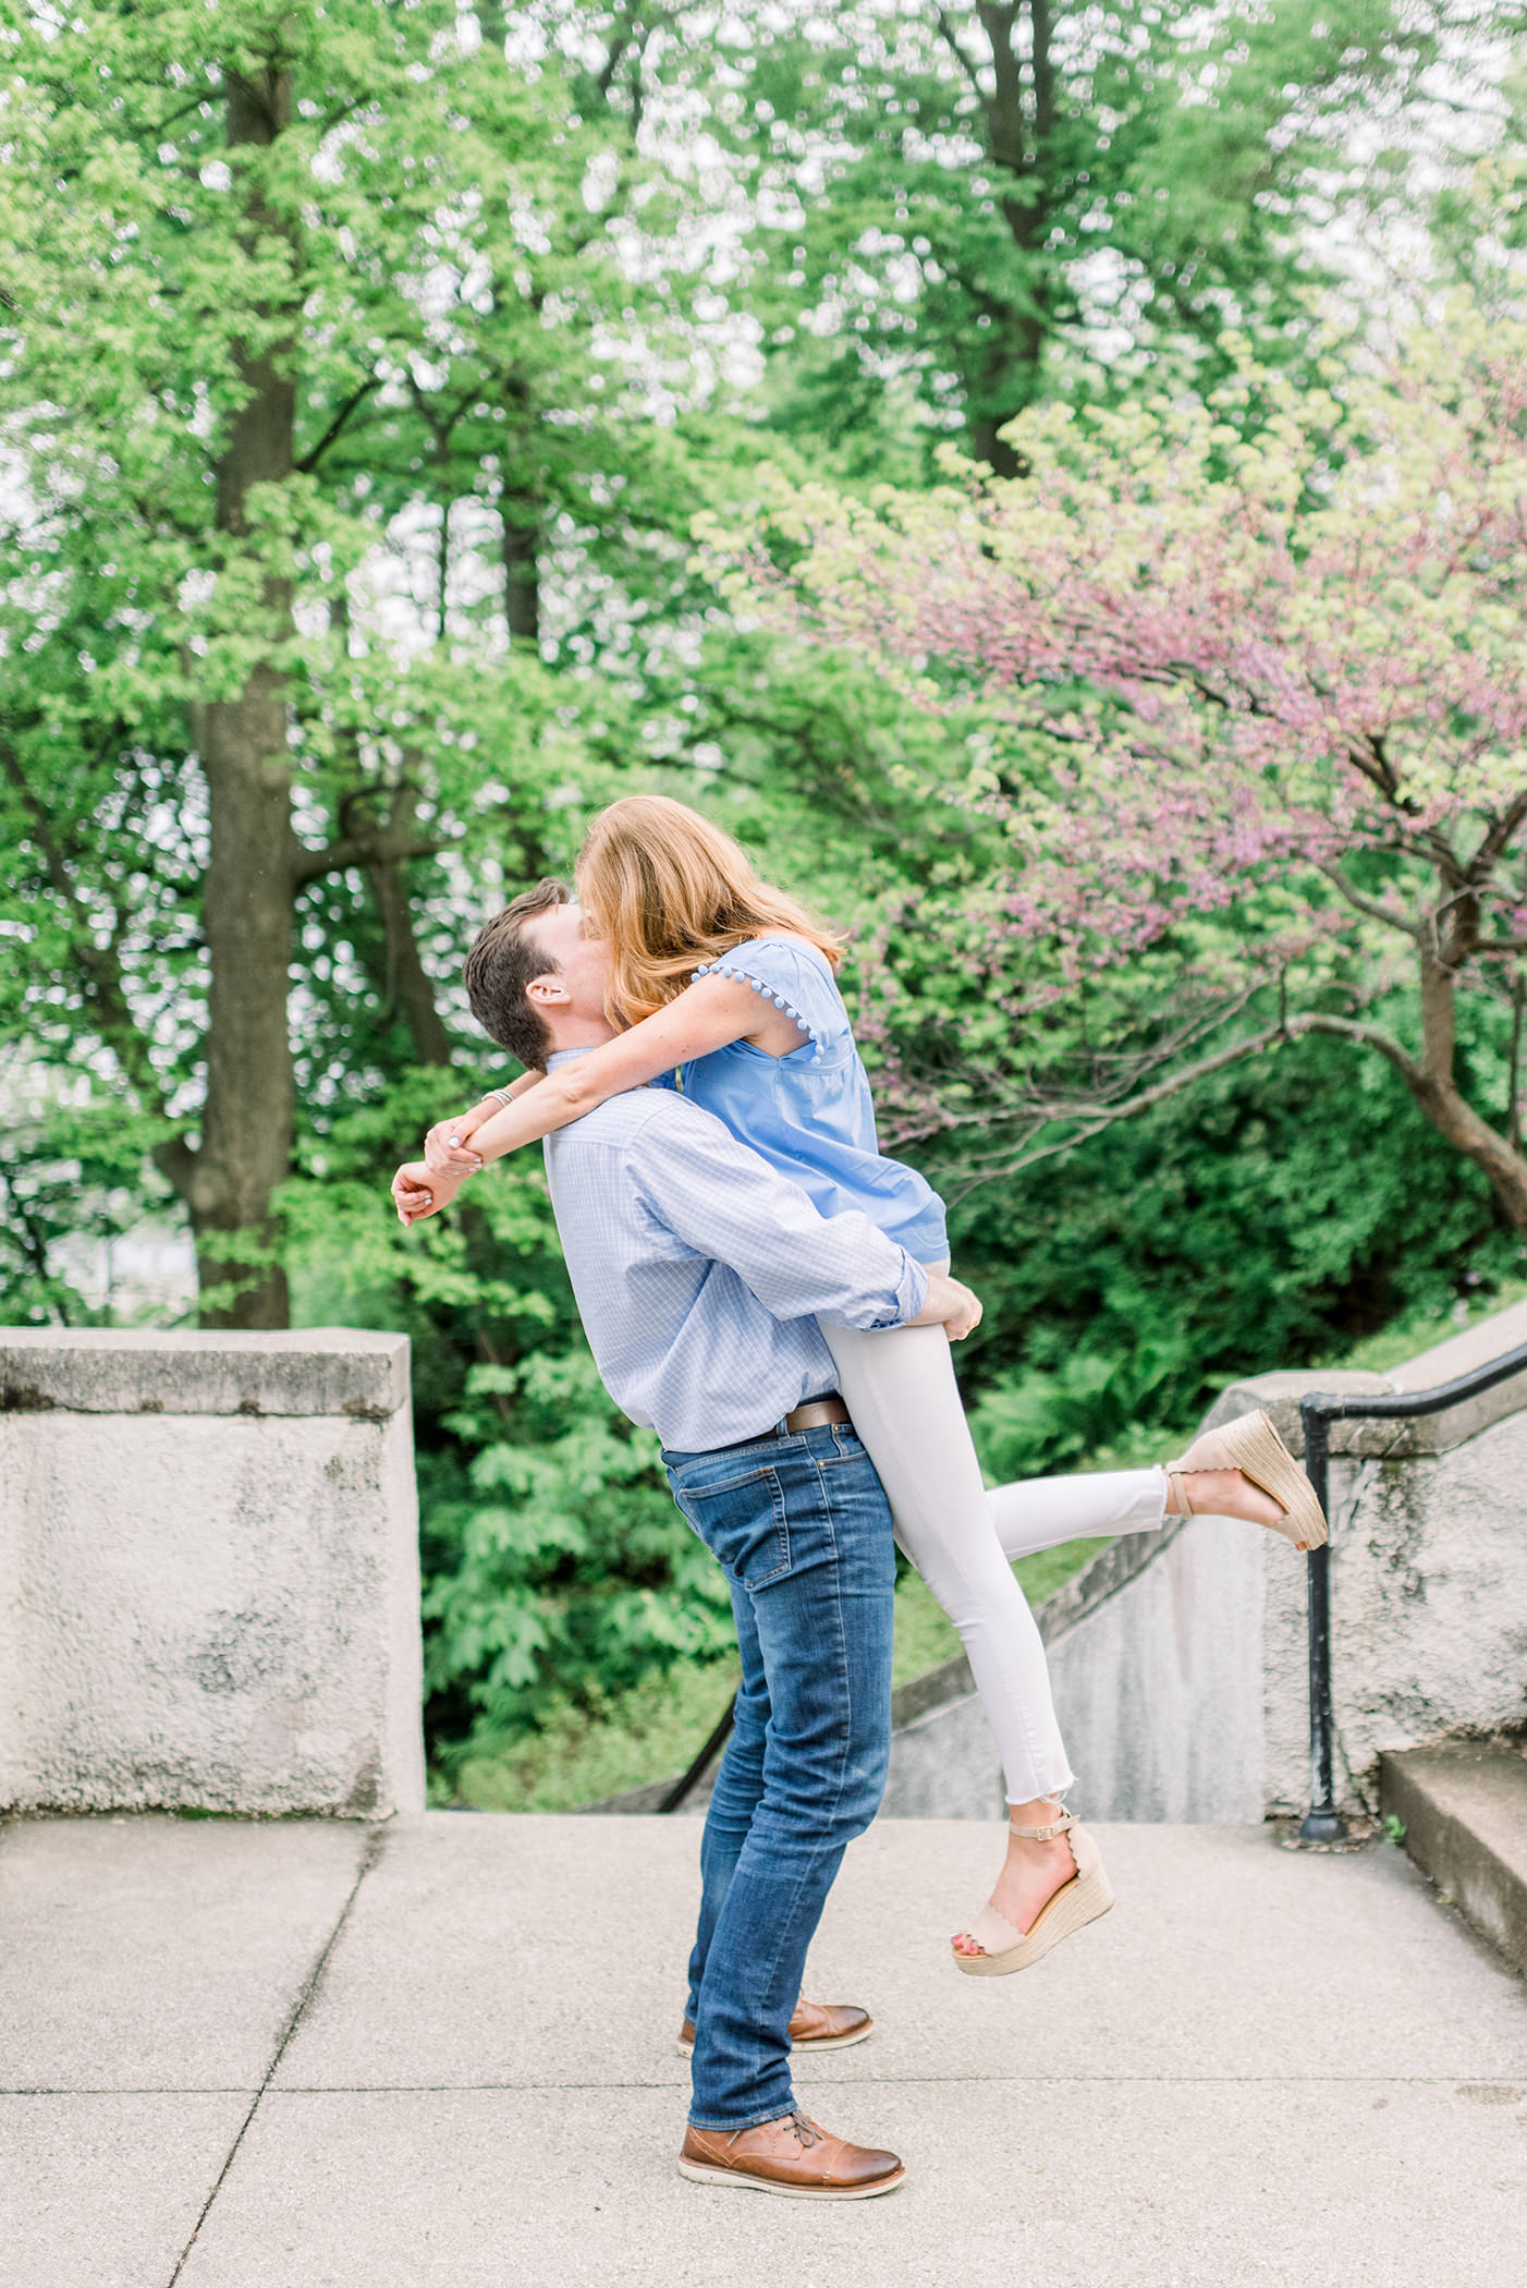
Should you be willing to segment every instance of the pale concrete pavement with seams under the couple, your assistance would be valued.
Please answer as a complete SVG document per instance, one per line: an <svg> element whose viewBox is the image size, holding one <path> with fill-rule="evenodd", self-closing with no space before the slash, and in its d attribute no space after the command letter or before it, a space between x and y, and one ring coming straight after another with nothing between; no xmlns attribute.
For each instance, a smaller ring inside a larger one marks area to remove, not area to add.
<svg viewBox="0 0 1527 2288"><path fill-rule="evenodd" d="M1001 1981L994 1830L850 1851L812 1991L878 2032L798 2082L910 2178L812 2208L674 2174L690 1821L9 1824L5 2288L1527 2281L1527 2002L1401 1853L1100 1835Z"/></svg>

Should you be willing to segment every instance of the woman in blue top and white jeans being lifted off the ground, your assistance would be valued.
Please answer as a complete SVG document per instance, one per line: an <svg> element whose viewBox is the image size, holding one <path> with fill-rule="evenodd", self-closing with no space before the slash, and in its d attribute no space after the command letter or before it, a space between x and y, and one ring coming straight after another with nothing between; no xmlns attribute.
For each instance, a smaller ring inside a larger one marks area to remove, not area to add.
<svg viewBox="0 0 1527 2288"><path fill-rule="evenodd" d="M869 1078L834 984L839 940L759 881L729 835L667 796L601 812L576 881L585 924L608 945L608 1014L622 1036L432 1128L427 1162L459 1176L679 1068L683 1091L823 1215L860 1208L919 1263L946 1270L942 1201L876 1142ZM1006 1771L1008 1856L953 1956L976 1977L1022 1970L1106 1913L1113 1894L1097 1846L1061 1803L1074 1782L1013 1560L1079 1535L1148 1533L1166 1515L1253 1519L1301 1549L1326 1538L1326 1522L1264 1414L1198 1439L1168 1471L1038 1478L988 1494L940 1327L823 1325L823 1336L896 1540L965 1643Z"/></svg>

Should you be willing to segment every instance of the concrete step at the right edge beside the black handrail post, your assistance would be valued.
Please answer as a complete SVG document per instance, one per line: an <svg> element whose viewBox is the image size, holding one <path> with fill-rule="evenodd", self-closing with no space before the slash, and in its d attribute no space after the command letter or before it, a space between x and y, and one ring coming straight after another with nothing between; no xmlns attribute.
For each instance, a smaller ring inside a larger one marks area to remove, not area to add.
<svg viewBox="0 0 1527 2288"><path fill-rule="evenodd" d="M1422 1874L1527 1972L1527 1755L1404 1748L1381 1757L1378 1803Z"/></svg>

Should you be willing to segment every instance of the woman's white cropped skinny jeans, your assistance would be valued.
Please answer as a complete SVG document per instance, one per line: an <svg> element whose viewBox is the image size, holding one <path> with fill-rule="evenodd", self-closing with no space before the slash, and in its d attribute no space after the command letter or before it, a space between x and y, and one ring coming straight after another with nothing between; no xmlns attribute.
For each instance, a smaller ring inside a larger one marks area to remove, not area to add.
<svg viewBox="0 0 1527 2288"><path fill-rule="evenodd" d="M942 1265L940 1265L942 1270ZM880 1471L896 1540L960 1631L997 1737L1008 1803L1074 1785L1045 1645L1013 1558L1102 1533L1152 1533L1166 1471L1024 1478L988 1492L942 1327L828 1327L839 1391Z"/></svg>

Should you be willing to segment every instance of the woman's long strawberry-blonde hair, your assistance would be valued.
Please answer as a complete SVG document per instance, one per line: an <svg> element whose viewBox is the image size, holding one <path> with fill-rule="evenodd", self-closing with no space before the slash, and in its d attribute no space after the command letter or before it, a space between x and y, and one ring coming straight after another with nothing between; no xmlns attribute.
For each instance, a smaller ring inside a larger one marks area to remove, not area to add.
<svg viewBox="0 0 1527 2288"><path fill-rule="evenodd" d="M841 940L784 890L759 881L743 849L688 803L626 794L601 810L578 851L578 901L610 947L606 1009L638 1025L683 993L702 961L786 931L832 968Z"/></svg>

